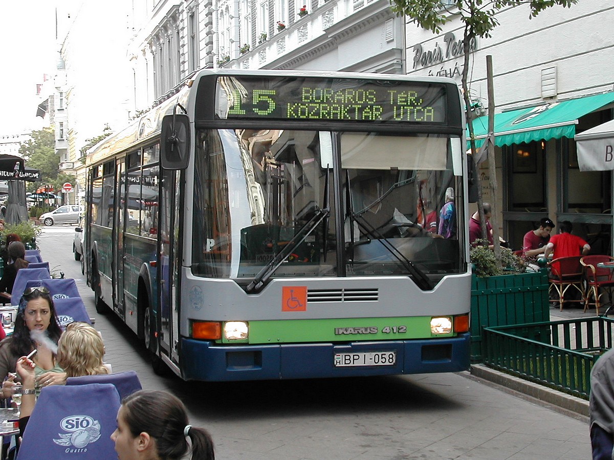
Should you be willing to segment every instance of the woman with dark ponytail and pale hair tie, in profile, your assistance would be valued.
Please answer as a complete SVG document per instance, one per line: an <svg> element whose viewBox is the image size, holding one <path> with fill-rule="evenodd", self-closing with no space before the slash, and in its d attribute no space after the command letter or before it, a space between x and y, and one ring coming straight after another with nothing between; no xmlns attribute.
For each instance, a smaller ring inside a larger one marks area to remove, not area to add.
<svg viewBox="0 0 614 460"><path fill-rule="evenodd" d="M209 432L189 425L184 404L166 391L140 390L125 397L111 439L120 460L216 458Z"/></svg>

